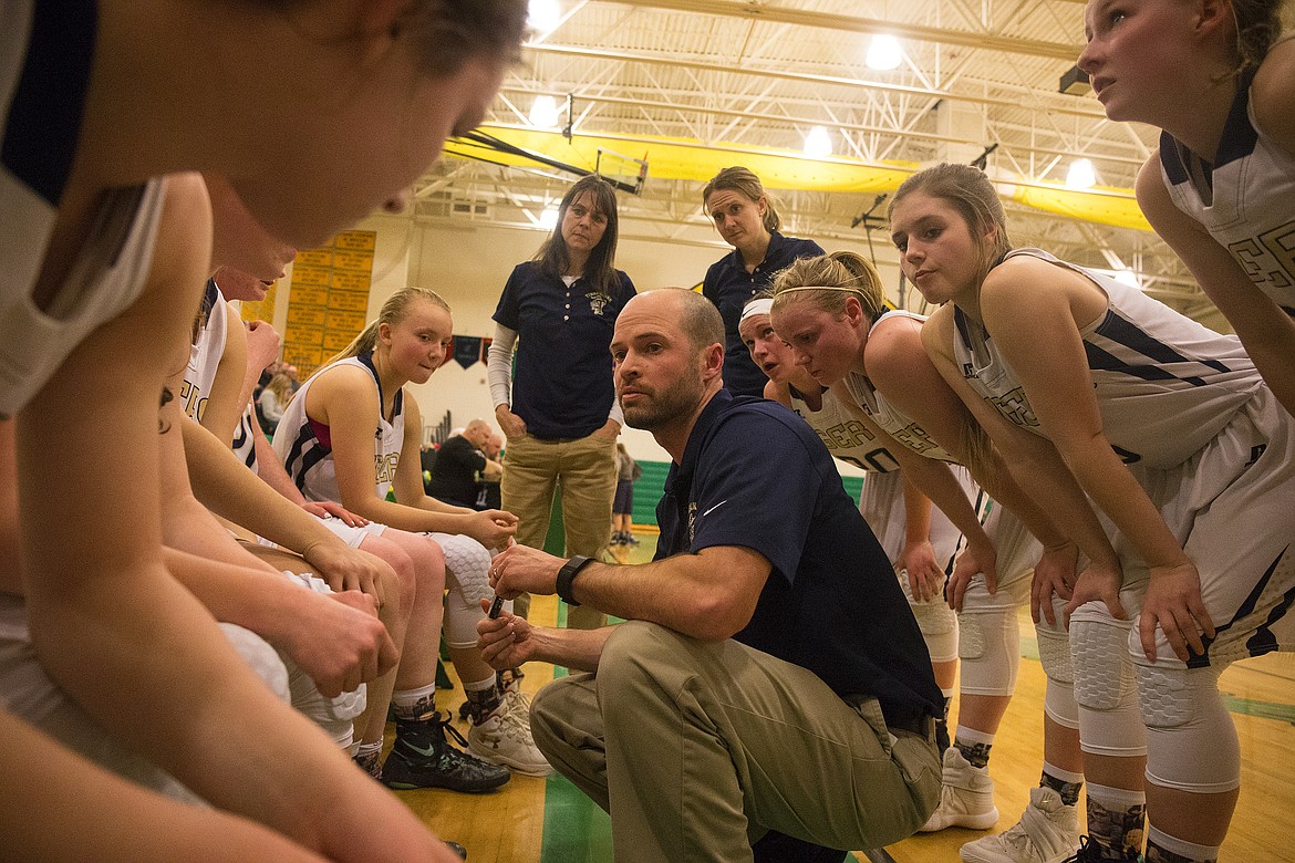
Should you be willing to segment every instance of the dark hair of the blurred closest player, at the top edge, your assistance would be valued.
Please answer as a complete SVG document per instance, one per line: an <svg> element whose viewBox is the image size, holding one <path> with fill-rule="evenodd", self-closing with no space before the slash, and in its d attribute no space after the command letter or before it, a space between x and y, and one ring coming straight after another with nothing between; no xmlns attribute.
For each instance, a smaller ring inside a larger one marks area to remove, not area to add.
<svg viewBox="0 0 1295 863"><path fill-rule="evenodd" d="M474 60L513 63L526 32L526 0L423 0L399 23L423 69L456 75Z"/></svg>

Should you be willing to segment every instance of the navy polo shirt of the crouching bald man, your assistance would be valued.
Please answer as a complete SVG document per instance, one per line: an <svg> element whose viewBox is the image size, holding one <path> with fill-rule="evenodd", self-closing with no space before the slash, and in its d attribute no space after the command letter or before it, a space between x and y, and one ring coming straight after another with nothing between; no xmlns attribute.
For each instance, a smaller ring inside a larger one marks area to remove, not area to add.
<svg viewBox="0 0 1295 863"><path fill-rule="evenodd" d="M877 696L890 719L940 714L895 569L828 448L794 413L720 391L671 466L657 521L658 560L742 546L773 564L737 640L809 669L838 695Z"/></svg>

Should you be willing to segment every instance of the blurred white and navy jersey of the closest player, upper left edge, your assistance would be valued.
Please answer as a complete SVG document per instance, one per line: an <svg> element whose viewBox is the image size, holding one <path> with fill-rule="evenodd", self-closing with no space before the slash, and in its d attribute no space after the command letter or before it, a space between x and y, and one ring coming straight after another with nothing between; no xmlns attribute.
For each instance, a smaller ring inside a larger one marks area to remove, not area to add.
<svg viewBox="0 0 1295 863"><path fill-rule="evenodd" d="M36 307L32 287L71 167L70 150L60 160L51 141L71 145L80 132L79 111L51 116L49 100L65 96L60 87L76 91L76 79L88 82L91 58L66 56L67 44L30 41L34 14L32 3L0 4L0 418L18 413L73 348L140 295L166 190L157 179L106 193L63 283ZM28 66L63 75L52 83Z"/></svg>

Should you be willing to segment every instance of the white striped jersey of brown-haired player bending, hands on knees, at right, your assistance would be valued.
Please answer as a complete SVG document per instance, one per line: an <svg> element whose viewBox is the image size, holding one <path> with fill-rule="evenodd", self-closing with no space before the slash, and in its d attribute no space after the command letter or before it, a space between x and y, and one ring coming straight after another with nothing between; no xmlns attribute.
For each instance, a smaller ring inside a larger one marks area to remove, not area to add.
<svg viewBox="0 0 1295 863"><path fill-rule="evenodd" d="M1210 442L1261 386L1255 365L1233 335L1220 335L1102 273L1028 255L1071 269L1101 289L1106 313L1080 330L1096 386L1102 426L1128 463L1172 467ZM967 383L1017 426L1042 435L1020 379L979 323L954 312L954 358Z"/></svg>

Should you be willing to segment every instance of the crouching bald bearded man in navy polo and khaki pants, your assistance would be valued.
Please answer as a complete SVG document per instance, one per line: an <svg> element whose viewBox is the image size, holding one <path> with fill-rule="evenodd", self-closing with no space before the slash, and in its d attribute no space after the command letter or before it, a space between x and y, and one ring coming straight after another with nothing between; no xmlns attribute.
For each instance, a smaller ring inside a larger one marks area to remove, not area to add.
<svg viewBox="0 0 1295 863"><path fill-rule="evenodd" d="M723 391L723 321L697 294L632 299L611 352L627 423L673 461L660 541L640 565L496 559L502 596L557 593L628 621L478 625L496 668L576 672L536 696L536 744L613 814L620 863L750 860L765 831L850 849L909 836L939 798L940 691L822 441Z"/></svg>

